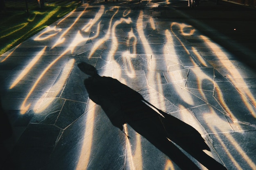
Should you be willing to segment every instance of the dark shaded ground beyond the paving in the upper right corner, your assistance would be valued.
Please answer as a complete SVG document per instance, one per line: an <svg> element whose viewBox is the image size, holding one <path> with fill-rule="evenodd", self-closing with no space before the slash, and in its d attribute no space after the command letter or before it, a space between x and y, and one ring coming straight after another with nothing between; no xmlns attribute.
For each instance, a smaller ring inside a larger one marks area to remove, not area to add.
<svg viewBox="0 0 256 170"><path fill-rule="evenodd" d="M201 0L199 6L193 9L187 7L187 1L177 1L169 6L186 14L188 16L186 23L193 25L203 35L208 36L256 71L254 55L256 52L256 32L254 31L256 10L254 7L223 0L218 0L218 4L216 0ZM159 6L159 8L165 7ZM161 18L172 17L173 15L170 15L168 11L161 16Z"/></svg>

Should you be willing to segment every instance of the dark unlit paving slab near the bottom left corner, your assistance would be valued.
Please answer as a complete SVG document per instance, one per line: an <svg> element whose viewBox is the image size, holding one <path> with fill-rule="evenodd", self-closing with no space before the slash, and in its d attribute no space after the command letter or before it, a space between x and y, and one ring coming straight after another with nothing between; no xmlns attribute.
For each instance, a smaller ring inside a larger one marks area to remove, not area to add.
<svg viewBox="0 0 256 170"><path fill-rule="evenodd" d="M18 169L40 169L54 149L60 129L53 125L29 124L13 150ZM33 160L33 161L31 161Z"/></svg>

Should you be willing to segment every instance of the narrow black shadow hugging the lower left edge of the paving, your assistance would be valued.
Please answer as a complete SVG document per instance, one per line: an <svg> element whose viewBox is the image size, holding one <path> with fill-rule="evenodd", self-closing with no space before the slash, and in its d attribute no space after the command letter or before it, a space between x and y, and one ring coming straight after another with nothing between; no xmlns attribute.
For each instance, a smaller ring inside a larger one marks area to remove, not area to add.
<svg viewBox="0 0 256 170"><path fill-rule="evenodd" d="M0 96L0 169L12 170L12 164L10 159L10 153L4 145L4 140L10 138L12 135L12 128L9 119L2 108L1 96Z"/></svg>

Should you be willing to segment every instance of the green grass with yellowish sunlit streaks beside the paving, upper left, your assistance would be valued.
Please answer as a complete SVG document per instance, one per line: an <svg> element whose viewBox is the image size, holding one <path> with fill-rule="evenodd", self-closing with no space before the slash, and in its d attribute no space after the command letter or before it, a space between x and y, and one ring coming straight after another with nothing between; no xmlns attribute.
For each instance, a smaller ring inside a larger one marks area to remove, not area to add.
<svg viewBox="0 0 256 170"><path fill-rule="evenodd" d="M0 13L0 55L51 25L76 9L81 0L47 1L40 9L37 1L6 1L5 11Z"/></svg>

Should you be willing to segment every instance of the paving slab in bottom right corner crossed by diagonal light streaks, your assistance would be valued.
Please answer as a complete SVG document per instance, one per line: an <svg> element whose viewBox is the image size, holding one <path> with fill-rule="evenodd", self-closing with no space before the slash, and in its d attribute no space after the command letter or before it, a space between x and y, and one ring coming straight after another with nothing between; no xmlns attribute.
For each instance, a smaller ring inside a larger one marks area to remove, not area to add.
<svg viewBox="0 0 256 170"><path fill-rule="evenodd" d="M210 137L228 169L255 169L255 145L252 142L255 131L210 134Z"/></svg>

